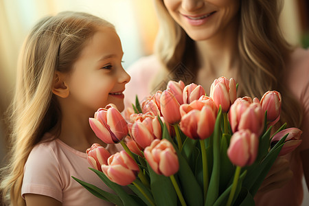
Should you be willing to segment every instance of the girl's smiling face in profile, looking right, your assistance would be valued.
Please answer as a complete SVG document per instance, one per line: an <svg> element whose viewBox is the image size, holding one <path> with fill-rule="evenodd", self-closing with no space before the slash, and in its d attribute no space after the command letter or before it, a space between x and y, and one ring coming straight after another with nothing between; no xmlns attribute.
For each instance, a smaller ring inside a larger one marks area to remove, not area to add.
<svg viewBox="0 0 309 206"><path fill-rule="evenodd" d="M122 67L122 45L115 30L101 27L87 41L69 74L69 98L81 112L92 115L109 103L124 110L124 94L130 76Z"/></svg>

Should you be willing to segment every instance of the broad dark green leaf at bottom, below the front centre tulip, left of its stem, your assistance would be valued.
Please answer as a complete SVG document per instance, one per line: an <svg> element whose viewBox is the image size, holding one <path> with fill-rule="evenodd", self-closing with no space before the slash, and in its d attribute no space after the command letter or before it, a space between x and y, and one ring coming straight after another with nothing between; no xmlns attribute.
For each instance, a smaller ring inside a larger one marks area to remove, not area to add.
<svg viewBox="0 0 309 206"><path fill-rule="evenodd" d="M150 188L156 205L176 206L178 198L170 178L157 174L152 170L149 164L148 171L150 174Z"/></svg>

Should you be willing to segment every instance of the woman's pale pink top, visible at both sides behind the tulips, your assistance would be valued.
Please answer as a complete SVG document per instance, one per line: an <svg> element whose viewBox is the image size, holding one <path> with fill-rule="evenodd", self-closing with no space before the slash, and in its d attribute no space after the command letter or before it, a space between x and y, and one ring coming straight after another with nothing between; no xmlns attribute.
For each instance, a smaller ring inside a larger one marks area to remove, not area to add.
<svg viewBox="0 0 309 206"><path fill-rule="evenodd" d="M301 126L302 144L297 150L286 158L290 161L290 169L294 176L284 187L273 190L266 195L256 199L256 205L300 205L303 199L303 187L301 179L303 168L299 152L309 149L309 50L297 49L293 53L289 73L286 74L286 84L290 91L298 98L304 107L304 119ZM130 82L126 84L125 106L131 106L135 102L135 95L143 100L152 92L150 82L158 73L160 68L159 60L155 56L143 57L128 68L131 76ZM284 94L282 94L284 97ZM309 160L308 160L309 161ZM309 178L309 176L307 177ZM307 188L304 191L308 192Z"/></svg>

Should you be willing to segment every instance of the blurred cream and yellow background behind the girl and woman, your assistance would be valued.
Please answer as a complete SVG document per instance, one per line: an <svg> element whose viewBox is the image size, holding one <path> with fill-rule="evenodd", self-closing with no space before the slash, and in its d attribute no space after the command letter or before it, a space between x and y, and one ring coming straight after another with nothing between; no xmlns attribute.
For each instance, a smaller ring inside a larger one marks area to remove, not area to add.
<svg viewBox="0 0 309 206"><path fill-rule="evenodd" d="M280 26L286 39L308 48L308 0L283 1ZM8 147L3 112L12 99L19 49L39 19L64 10L89 12L113 23L122 41L125 69L152 54L158 29L152 0L0 0L0 167ZM304 205L309 205L307 201Z"/></svg>

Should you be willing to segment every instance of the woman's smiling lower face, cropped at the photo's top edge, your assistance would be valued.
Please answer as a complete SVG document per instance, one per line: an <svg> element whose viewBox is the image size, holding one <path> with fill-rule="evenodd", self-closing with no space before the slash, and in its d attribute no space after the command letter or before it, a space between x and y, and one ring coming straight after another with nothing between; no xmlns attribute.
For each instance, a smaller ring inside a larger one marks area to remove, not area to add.
<svg viewBox="0 0 309 206"><path fill-rule="evenodd" d="M239 0L163 0L172 18L195 41L224 33L240 9Z"/></svg>

